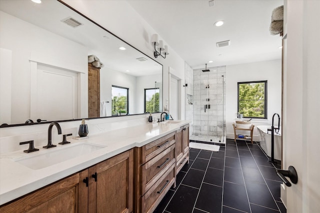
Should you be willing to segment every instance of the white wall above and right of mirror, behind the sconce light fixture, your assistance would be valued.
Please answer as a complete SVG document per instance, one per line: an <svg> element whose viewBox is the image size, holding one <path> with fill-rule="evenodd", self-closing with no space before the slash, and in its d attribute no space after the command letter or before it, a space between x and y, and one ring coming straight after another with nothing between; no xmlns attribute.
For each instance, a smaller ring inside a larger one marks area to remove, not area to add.
<svg viewBox="0 0 320 213"><path fill-rule="evenodd" d="M181 82L184 82L184 60L170 48L170 44L167 44L169 47L169 55L166 56L165 59L160 56L154 58L150 38L152 34L157 32L128 2L124 0L63 1L163 65L163 104L165 104L165 100L169 97L169 66L174 69L174 73L172 74L181 78ZM159 39L162 39L161 35L159 35ZM163 42L166 43L165 40ZM184 99L183 94L181 95L181 119L184 119L185 114Z"/></svg>

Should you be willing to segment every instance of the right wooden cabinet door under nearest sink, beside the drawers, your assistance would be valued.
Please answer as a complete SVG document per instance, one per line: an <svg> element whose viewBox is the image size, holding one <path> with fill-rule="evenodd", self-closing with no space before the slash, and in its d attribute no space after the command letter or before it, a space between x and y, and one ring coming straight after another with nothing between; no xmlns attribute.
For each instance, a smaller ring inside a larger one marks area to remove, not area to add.
<svg viewBox="0 0 320 213"><path fill-rule="evenodd" d="M133 208L133 150L98 163L89 168L89 173L91 171L93 173L94 168L96 168L96 182L94 182L95 186L94 184L89 185L89 212L131 213ZM91 174L89 176L91 177ZM93 178L92 180L94 181ZM91 196L96 198L95 202L90 202Z"/></svg>

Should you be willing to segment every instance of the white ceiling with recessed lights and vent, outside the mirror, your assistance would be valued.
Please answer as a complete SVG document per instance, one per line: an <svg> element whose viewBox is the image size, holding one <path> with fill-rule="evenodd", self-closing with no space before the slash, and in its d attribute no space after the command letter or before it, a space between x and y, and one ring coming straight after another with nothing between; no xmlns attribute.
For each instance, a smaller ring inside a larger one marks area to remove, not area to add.
<svg viewBox="0 0 320 213"><path fill-rule="evenodd" d="M127 0L193 69L281 58L281 37L270 35L272 10L283 0ZM224 20L220 27L213 25ZM216 42L230 40L230 46ZM169 50L170 51L170 50ZM168 55L169 57L170 55Z"/></svg>

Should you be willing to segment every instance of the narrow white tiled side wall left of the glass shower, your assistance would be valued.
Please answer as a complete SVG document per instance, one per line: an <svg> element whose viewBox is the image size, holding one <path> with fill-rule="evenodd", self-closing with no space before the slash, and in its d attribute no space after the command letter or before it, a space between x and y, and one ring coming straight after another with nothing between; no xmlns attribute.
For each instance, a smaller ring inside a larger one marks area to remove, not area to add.
<svg viewBox="0 0 320 213"><path fill-rule="evenodd" d="M185 88L185 120L193 120L193 113L194 113L194 93L193 93L193 86L194 86L194 78L193 78L193 69L184 62L184 79L185 84L187 84ZM200 80L200 79L198 79ZM189 98L189 100L188 100ZM193 125L194 123L191 122L189 125L189 134L193 132Z"/></svg>

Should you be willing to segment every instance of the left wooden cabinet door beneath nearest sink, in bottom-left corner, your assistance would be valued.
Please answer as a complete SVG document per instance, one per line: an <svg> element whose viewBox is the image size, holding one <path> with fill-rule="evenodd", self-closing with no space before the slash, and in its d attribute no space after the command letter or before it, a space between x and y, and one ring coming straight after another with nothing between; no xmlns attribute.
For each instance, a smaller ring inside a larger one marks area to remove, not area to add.
<svg viewBox="0 0 320 213"><path fill-rule="evenodd" d="M83 177L87 177L87 170L39 189L9 204L4 204L0 207L0 212L87 212L88 191L82 182Z"/></svg>

